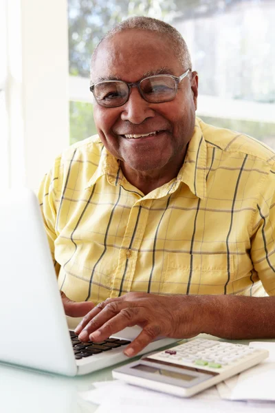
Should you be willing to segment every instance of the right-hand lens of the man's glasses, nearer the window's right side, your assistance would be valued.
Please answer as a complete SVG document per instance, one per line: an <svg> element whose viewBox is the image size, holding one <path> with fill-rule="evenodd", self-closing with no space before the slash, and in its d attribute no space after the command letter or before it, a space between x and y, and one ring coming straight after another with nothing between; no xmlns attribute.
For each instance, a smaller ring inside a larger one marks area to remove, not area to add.
<svg viewBox="0 0 275 413"><path fill-rule="evenodd" d="M140 83L140 89L148 102L167 102L175 98L176 82L171 76L151 76Z"/></svg>

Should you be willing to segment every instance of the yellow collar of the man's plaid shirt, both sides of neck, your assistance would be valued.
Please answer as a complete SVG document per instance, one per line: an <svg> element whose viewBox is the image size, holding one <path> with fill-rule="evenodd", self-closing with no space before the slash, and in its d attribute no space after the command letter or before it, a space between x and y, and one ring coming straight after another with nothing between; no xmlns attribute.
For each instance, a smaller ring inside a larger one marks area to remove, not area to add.
<svg viewBox="0 0 275 413"><path fill-rule="evenodd" d="M206 198L206 154L206 141L203 138L199 120L196 118L194 133L188 144L184 165L182 165L175 180L155 189L156 192L153 191L155 192L153 198L160 198L175 191L180 182L188 185L190 191L198 198ZM106 176L109 184L115 187L127 182L122 174L120 161L111 155L105 147L102 148L98 169L87 183L87 187L94 185L101 176Z"/></svg>

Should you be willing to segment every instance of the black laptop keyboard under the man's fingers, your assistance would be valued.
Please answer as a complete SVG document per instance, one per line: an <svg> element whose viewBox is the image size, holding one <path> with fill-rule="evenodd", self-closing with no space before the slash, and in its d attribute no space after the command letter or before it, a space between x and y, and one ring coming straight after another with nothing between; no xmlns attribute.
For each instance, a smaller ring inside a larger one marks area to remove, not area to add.
<svg viewBox="0 0 275 413"><path fill-rule="evenodd" d="M69 334L71 335L72 346L74 348L74 357L76 360L80 360L83 357L90 357L93 354L109 351L112 350L112 348L126 346L126 344L131 343L131 341L128 340L120 340L115 338L106 339L104 341L100 341L100 343L95 343L94 341L87 341L84 343L83 341L78 340L78 336L74 334L74 331L70 331Z"/></svg>

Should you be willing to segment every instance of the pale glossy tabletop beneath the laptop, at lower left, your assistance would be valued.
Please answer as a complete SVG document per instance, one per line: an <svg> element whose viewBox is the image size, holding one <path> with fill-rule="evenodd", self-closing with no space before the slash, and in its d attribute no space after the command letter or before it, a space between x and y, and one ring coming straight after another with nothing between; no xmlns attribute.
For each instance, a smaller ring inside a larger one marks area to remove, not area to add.
<svg viewBox="0 0 275 413"><path fill-rule="evenodd" d="M206 335L199 337L217 339ZM111 380L112 368L113 366L82 377L69 378L0 364L0 412L95 412L98 406L80 399L78 392L93 389L95 381ZM234 409L234 402L232 402L232 409ZM173 410L172 406L171 410Z"/></svg>

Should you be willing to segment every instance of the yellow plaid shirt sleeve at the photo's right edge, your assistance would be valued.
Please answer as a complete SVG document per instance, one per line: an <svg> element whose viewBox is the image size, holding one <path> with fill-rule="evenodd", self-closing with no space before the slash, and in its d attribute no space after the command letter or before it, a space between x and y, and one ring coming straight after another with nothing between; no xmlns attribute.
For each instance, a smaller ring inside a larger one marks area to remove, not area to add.
<svg viewBox="0 0 275 413"><path fill-rule="evenodd" d="M275 295L275 173L264 180L252 223L251 259L268 295Z"/></svg>

